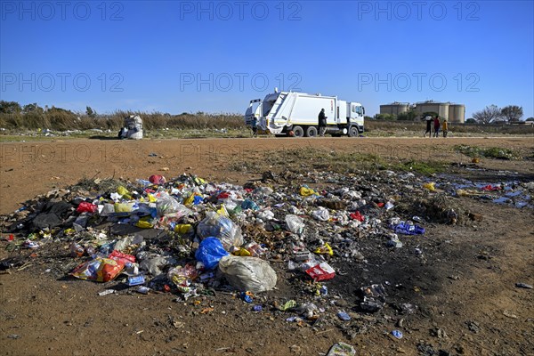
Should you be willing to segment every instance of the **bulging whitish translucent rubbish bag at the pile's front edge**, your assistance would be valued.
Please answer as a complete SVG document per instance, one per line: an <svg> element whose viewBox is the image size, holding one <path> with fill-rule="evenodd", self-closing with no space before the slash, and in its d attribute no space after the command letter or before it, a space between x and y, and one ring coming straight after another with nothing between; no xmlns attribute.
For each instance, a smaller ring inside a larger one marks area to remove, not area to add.
<svg viewBox="0 0 534 356"><path fill-rule="evenodd" d="M260 293L276 286L276 272L258 257L224 256L219 261L219 271L231 287L242 292Z"/></svg>

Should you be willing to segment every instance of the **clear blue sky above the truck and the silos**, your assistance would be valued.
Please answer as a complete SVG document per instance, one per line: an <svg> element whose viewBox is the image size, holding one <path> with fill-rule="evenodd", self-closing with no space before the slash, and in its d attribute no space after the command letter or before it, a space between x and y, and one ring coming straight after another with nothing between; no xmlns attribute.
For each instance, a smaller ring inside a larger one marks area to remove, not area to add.
<svg viewBox="0 0 534 356"><path fill-rule="evenodd" d="M0 2L0 98L75 111L243 113L274 87L522 106L532 1Z"/></svg>

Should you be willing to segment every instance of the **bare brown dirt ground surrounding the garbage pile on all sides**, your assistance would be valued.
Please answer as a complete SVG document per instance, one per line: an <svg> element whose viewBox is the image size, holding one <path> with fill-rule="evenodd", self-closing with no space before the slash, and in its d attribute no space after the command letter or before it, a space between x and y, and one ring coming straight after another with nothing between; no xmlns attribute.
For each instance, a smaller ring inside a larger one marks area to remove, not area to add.
<svg viewBox="0 0 534 356"><path fill-rule="evenodd" d="M491 174L481 180L506 180L507 174L517 173L525 182L534 181L532 137L4 142L0 214L11 214L25 200L84 177L135 180L188 172L208 181L243 184L261 174L234 171L230 162L246 161L256 152L307 147L461 166L471 158L453 150L460 144L524 154L520 160L482 158L479 166ZM424 236L407 239L398 253L374 239L360 241L368 264L338 267L344 273L328 284L332 309L336 295L344 300L336 306L352 311L349 322L292 323L287 314L268 308L273 300L299 293L283 263L275 268L278 289L259 297L263 312L251 312L250 304L227 294L205 296L200 303L176 303L175 295L99 296L105 286L66 278L61 269L47 271L49 265L40 259L22 271L0 274L0 353L321 355L342 341L359 355L533 355L534 290L515 287L517 282L534 283L532 209L467 197L455 198L455 203L483 219L465 225L429 223ZM0 258L7 255L6 244L0 242ZM425 259L413 254L415 248L426 252ZM68 255L65 251L65 263ZM384 281L391 283L394 303L376 314L353 309L359 287ZM406 312L402 303L417 308ZM206 312L208 307L213 310ZM393 329L404 336L395 339Z"/></svg>

